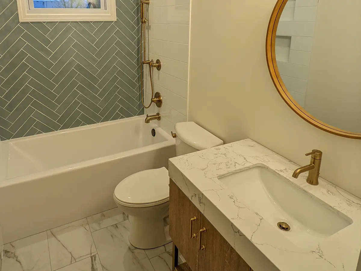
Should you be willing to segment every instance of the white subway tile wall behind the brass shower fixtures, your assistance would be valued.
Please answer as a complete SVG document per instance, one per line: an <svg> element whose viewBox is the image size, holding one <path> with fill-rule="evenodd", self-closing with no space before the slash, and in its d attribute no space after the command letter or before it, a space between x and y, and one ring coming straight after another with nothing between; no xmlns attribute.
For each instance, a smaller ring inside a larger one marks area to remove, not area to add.
<svg viewBox="0 0 361 271"><path fill-rule="evenodd" d="M187 121L190 0L153 0L149 5L147 57L160 59L162 69L153 69L154 91L163 97L145 113L162 116L157 124L170 133L177 122ZM144 70L145 104L151 98L149 69Z"/></svg>

